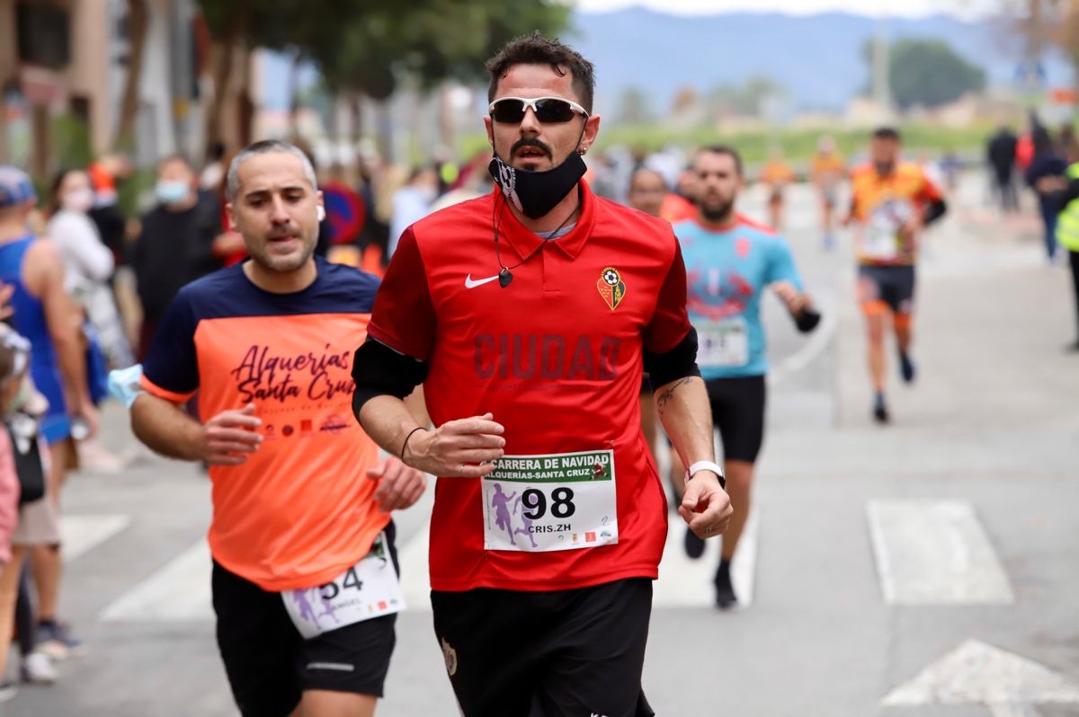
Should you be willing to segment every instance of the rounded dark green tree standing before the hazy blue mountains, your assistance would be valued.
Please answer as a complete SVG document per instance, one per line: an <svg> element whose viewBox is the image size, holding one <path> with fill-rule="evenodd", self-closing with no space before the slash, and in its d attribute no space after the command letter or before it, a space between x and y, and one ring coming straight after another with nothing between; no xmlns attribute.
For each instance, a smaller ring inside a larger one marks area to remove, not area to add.
<svg viewBox="0 0 1079 717"><path fill-rule="evenodd" d="M872 51L866 46L866 57ZM888 82L896 104L937 107L985 88L985 70L940 40L904 39L888 52Z"/></svg>

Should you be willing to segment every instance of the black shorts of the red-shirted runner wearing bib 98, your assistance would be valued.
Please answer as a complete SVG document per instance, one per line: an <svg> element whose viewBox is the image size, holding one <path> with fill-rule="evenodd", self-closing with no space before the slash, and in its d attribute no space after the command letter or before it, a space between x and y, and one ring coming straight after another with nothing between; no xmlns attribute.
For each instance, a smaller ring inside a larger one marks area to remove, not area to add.
<svg viewBox="0 0 1079 717"><path fill-rule="evenodd" d="M652 717L641 689L652 580L524 592L432 591L465 717Z"/></svg>

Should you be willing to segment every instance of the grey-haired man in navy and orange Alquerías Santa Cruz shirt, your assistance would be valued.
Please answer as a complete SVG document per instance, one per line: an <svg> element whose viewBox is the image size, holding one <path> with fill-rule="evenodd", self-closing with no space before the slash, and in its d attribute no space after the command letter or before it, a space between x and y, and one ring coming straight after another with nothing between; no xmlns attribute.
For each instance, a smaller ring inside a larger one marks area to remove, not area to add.
<svg viewBox="0 0 1079 717"><path fill-rule="evenodd" d="M241 713L369 717L404 607L390 511L425 487L349 415L379 281L313 256L325 210L298 148L242 151L228 195L251 258L177 294L132 428L209 464L217 637ZM196 390L204 424L181 410Z"/></svg>

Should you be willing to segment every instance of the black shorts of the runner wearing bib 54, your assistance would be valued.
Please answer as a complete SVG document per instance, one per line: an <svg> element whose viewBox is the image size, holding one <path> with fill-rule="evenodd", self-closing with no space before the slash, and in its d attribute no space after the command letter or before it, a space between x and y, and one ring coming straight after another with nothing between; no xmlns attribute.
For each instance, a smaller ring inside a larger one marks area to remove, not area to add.
<svg viewBox="0 0 1079 717"><path fill-rule="evenodd" d="M394 524L385 528L394 567ZM281 593L262 590L214 562L217 643L244 717L286 717L304 690L382 697L394 651L396 615L303 639Z"/></svg>

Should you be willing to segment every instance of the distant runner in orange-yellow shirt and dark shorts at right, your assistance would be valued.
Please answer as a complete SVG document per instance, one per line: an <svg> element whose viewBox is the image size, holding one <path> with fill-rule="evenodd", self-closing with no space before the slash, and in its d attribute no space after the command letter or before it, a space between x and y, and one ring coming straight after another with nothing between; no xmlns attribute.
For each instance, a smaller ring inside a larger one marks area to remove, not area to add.
<svg viewBox="0 0 1079 717"><path fill-rule="evenodd" d="M858 297L869 334L873 417L888 423L885 400L886 318L892 317L900 372L914 381L911 359L914 322L914 264L921 230L947 210L941 191L913 162L901 162L899 133L882 127L870 140L871 163L851 174L850 213L856 227Z"/></svg>

